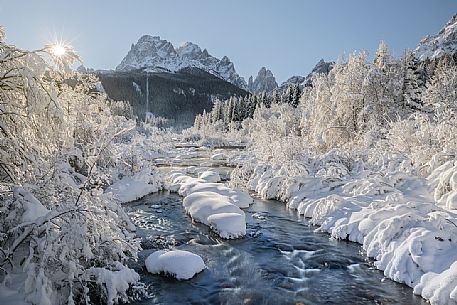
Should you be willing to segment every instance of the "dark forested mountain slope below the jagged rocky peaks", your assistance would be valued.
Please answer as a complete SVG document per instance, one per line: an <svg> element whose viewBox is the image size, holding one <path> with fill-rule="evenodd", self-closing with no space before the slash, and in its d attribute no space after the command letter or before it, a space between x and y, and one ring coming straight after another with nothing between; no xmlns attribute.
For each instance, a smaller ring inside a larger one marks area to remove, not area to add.
<svg viewBox="0 0 457 305"><path fill-rule="evenodd" d="M139 118L144 119L145 113L151 112L173 120L177 127L191 126L196 114L211 110L216 98L248 94L198 68L183 68L175 73L115 71L98 77L108 96L129 101Z"/></svg>

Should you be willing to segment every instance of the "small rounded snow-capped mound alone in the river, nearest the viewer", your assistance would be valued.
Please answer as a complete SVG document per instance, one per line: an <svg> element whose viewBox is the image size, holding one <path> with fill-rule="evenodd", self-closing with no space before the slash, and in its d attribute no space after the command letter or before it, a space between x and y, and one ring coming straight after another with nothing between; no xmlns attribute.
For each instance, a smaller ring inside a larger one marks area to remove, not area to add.
<svg viewBox="0 0 457 305"><path fill-rule="evenodd" d="M188 280L206 267L200 256L182 250L156 251L146 258L145 265L150 273L163 272L178 280Z"/></svg>

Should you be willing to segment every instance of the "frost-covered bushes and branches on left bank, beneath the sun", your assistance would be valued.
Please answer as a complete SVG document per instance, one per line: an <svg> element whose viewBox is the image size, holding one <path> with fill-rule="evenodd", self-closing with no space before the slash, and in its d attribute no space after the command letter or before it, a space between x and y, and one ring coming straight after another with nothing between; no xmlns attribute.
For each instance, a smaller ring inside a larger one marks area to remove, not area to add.
<svg viewBox="0 0 457 305"><path fill-rule="evenodd" d="M0 279L33 304L141 294L127 267L135 227L105 189L139 173L161 183L153 140L125 104L95 93L93 75L68 69L76 59L0 41Z"/></svg>

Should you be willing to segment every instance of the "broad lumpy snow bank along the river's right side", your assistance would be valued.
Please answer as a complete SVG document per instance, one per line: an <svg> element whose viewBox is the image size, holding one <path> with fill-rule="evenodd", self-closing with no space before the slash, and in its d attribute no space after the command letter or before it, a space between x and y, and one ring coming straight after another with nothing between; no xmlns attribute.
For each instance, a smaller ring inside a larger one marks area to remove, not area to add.
<svg viewBox="0 0 457 305"><path fill-rule="evenodd" d="M457 304L457 166L432 172L433 198L427 181L403 171L400 161L351 172L342 162L315 160L304 175L290 166L248 165L245 174L263 198L285 202L334 238L361 243L386 277L431 304Z"/></svg>

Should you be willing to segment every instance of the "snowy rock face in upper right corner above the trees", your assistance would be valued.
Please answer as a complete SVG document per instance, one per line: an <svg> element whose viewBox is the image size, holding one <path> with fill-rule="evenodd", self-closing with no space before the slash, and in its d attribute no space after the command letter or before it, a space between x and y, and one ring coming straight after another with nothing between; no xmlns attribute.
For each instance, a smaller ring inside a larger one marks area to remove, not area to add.
<svg viewBox="0 0 457 305"><path fill-rule="evenodd" d="M434 59L445 54L457 52L457 14L444 26L443 29L433 36L426 36L414 50L414 54L420 60Z"/></svg>

